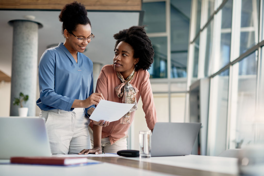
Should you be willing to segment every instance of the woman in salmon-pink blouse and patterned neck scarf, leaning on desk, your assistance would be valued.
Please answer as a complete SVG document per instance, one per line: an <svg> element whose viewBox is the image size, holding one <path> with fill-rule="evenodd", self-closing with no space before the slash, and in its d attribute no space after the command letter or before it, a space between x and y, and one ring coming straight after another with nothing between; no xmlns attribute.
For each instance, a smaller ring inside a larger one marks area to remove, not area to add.
<svg viewBox="0 0 264 176"><path fill-rule="evenodd" d="M97 80L96 91L106 100L133 103L133 108L120 120L106 122L102 131L89 125L92 145L101 139L104 153L117 153L127 149L128 129L133 122L137 102L141 96L145 119L150 130L157 122L152 89L147 70L153 63L154 50L144 26L132 26L114 35L116 39L112 65L105 65ZM96 136L93 139L93 136ZM80 154L86 153L82 150Z"/></svg>

